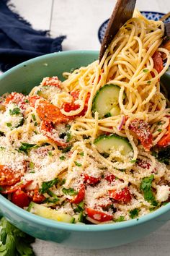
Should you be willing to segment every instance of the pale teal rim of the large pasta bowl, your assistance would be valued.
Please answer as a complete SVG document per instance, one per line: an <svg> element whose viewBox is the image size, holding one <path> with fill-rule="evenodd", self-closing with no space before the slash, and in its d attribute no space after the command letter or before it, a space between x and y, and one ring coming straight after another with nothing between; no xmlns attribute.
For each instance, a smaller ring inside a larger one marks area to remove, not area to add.
<svg viewBox="0 0 170 256"><path fill-rule="evenodd" d="M99 51L62 51L58 53L53 54L45 54L43 56L38 56L36 58L30 59L28 61L24 61L21 64L18 64L17 66L13 67L12 69L9 69L8 71L4 72L4 74L1 74L0 76L0 82L1 79L6 77L9 73L17 71L17 69L23 67L25 64L34 64L37 61L44 60L48 57L53 56L70 56L70 55L76 55L76 54L88 54L88 55L96 55L99 54ZM158 208L157 210L153 211L152 213L148 213L145 216L140 216L139 218L134 218L129 221L122 221L117 223L104 223L104 224L90 224L90 225L84 225L84 224L75 224L75 223L64 223L59 221L53 221L48 218L43 218L40 216L36 216L35 214L32 214L30 212L27 212L27 210L24 210L22 208L19 208L17 205L14 205L11 201L7 200L3 195L0 195L0 203L4 207L4 209L8 209L10 212L14 213L18 217L25 219L27 221L31 221L32 223L39 224L41 226L48 226L48 228L51 229L62 229L66 231L111 231L111 230L117 230L117 229L126 229L130 228L132 226L138 226L141 223L146 223L148 221L151 221L155 218L160 217L161 215L170 212L170 202L167 205L162 206L161 208ZM4 210L5 212L5 210ZM6 214L4 213L4 216ZM10 218L9 218L10 220ZM159 220L157 220L159 221ZM164 221L164 220L160 220ZM169 221L165 220L164 222Z"/></svg>

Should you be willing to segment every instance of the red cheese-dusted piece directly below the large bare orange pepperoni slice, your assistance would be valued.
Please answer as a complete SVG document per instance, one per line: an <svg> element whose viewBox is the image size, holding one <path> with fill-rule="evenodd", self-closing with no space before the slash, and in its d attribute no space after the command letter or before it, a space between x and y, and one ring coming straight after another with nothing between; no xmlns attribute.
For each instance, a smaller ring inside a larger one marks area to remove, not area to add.
<svg viewBox="0 0 170 256"><path fill-rule="evenodd" d="M58 146L66 147L68 145L68 143L66 143L66 140L59 137L57 130L51 122L42 121L40 129L43 135L48 137L49 140L55 142L55 144L57 144Z"/></svg>

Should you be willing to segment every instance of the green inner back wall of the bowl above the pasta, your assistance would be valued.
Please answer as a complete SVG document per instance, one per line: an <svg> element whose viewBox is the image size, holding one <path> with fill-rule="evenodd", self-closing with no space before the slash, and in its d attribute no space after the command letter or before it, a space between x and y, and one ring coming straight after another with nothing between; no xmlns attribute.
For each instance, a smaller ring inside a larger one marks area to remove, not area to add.
<svg viewBox="0 0 170 256"><path fill-rule="evenodd" d="M98 54L98 51L64 51L25 61L1 75L0 95L12 91L29 93L40 85L43 77L57 75L63 80L63 72L90 64L98 59Z"/></svg>

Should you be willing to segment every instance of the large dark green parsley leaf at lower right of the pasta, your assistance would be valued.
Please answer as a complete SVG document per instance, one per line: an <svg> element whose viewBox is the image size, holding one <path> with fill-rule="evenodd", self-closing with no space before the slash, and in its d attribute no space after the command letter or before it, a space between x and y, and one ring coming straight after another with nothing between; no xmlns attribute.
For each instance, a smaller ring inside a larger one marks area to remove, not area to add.
<svg viewBox="0 0 170 256"><path fill-rule="evenodd" d="M155 197L153 195L153 190L152 190L153 179L154 179L153 174L151 174L151 176L149 177L143 178L140 184L140 190L143 191L145 200L147 202L151 202L151 205L156 206L158 205L158 202L156 202Z"/></svg>

